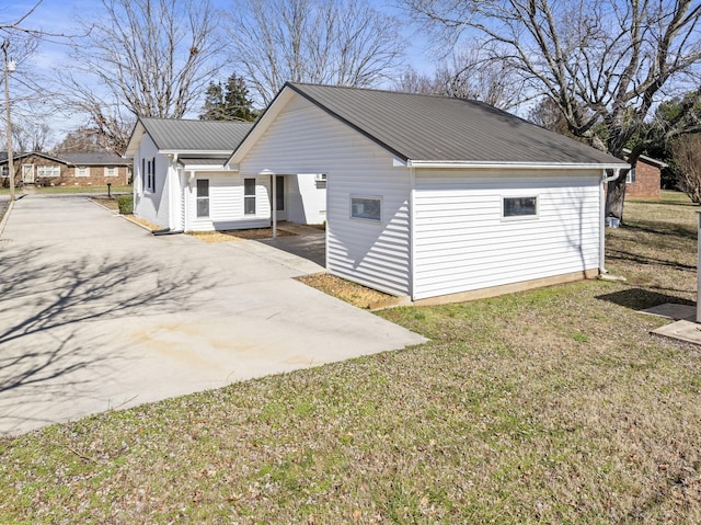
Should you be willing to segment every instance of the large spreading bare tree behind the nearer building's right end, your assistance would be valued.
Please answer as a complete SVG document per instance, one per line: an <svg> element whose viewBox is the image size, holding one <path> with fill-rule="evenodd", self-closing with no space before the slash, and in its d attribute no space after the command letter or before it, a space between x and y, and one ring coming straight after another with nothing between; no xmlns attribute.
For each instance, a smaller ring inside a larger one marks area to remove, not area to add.
<svg viewBox="0 0 701 525"><path fill-rule="evenodd" d="M531 96L544 95L570 132L623 158L657 102L694 85L701 99L701 5L692 0L404 0L417 19L457 38L475 32L515 64ZM696 99L696 100L694 100ZM683 116L670 123L677 134ZM597 133L602 126L604 133ZM635 162L642 140L629 157ZM607 215L622 218L624 173L609 184Z"/></svg>

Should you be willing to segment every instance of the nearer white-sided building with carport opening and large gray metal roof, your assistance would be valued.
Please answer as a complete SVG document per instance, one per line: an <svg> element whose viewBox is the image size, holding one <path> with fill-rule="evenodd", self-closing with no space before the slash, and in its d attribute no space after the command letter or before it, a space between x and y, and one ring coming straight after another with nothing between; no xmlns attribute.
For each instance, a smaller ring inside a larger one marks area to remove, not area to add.
<svg viewBox="0 0 701 525"><path fill-rule="evenodd" d="M266 190L313 174L326 185L327 270L434 301L598 274L604 183L625 168L480 102L298 83L228 161Z"/></svg>

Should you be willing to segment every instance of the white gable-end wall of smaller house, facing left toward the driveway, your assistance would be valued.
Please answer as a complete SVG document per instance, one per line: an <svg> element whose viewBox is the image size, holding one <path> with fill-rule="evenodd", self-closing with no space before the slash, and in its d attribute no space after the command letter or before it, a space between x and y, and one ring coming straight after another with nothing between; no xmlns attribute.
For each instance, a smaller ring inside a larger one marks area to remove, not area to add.
<svg viewBox="0 0 701 525"><path fill-rule="evenodd" d="M156 159L156 191L150 192L143 187L141 159L153 158ZM171 198L169 197L171 178L166 176L170 162L169 157L159 155L151 137L145 135L134 156L134 214L162 228L171 227Z"/></svg>

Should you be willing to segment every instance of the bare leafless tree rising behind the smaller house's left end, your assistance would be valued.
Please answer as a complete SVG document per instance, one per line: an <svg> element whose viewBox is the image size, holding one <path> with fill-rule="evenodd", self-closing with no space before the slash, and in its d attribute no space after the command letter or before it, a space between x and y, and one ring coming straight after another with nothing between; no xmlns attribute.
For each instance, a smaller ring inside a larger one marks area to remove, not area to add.
<svg viewBox="0 0 701 525"><path fill-rule="evenodd" d="M218 16L208 0L102 0L62 76L72 107L122 152L139 116L179 118L219 69Z"/></svg>

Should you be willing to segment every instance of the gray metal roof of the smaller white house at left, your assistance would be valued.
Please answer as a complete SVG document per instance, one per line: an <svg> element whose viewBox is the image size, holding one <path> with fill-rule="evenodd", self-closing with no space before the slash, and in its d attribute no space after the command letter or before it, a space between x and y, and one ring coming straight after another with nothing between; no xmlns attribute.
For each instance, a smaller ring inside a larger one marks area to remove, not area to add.
<svg viewBox="0 0 701 525"><path fill-rule="evenodd" d="M232 121L140 121L158 149L173 151L233 151L253 126Z"/></svg>

